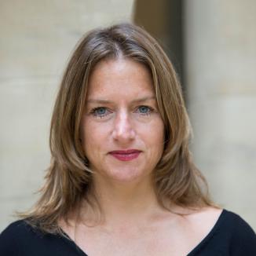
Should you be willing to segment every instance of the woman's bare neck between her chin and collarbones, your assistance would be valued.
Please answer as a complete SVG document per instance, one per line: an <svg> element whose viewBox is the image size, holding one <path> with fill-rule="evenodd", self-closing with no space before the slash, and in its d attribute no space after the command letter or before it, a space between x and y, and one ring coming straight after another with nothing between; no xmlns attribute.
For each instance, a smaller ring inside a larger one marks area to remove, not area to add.
<svg viewBox="0 0 256 256"><path fill-rule="evenodd" d="M152 179L143 181L106 181L100 175L93 188L104 216L104 225L129 225L148 221L159 211Z"/></svg>

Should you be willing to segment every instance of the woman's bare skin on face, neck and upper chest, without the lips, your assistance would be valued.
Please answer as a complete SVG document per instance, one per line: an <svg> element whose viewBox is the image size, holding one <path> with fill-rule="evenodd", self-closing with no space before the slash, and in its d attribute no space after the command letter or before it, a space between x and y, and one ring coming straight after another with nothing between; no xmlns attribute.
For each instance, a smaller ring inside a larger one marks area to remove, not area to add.
<svg viewBox="0 0 256 256"><path fill-rule="evenodd" d="M186 255L218 220L221 210L212 207L170 212L159 206L152 174L163 134L148 70L133 60L101 60L90 76L80 135L104 221L88 225L95 215L86 209L88 222L60 221L86 254ZM123 162L109 154L128 148L141 151L137 159Z"/></svg>

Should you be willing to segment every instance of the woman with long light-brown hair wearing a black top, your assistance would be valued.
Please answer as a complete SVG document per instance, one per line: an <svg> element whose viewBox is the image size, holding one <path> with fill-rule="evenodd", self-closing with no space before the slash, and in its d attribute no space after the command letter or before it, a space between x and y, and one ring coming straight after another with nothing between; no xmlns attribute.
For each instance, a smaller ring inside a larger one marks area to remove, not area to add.
<svg viewBox="0 0 256 256"><path fill-rule="evenodd" d="M1 255L256 255L254 231L216 207L188 151L181 87L132 24L90 31L64 73L42 196Z"/></svg>

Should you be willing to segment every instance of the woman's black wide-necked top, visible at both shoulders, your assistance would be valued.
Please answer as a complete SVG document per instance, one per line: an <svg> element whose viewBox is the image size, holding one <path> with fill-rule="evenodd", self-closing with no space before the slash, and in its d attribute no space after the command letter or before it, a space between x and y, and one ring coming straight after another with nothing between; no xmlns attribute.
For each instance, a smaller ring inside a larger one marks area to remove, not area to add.
<svg viewBox="0 0 256 256"><path fill-rule="evenodd" d="M2 232L0 255L88 256L67 237L42 234L42 232L32 229L25 221L15 221ZM214 228L188 254L188 256L195 255L256 256L256 235L240 216L223 210Z"/></svg>

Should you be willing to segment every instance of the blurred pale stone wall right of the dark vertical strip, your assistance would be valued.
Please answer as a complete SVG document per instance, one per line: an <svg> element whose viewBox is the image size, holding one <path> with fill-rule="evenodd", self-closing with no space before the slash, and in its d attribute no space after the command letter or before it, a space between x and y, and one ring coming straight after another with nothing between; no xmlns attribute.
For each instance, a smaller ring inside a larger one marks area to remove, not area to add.
<svg viewBox="0 0 256 256"><path fill-rule="evenodd" d="M185 1L192 149L217 203L256 230L256 2Z"/></svg>

